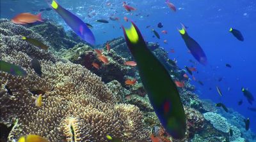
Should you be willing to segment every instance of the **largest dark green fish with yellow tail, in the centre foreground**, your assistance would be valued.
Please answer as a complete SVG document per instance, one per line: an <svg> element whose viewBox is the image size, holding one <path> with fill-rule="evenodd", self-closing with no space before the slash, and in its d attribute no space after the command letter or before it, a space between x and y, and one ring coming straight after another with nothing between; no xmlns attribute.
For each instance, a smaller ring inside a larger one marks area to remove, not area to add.
<svg viewBox="0 0 256 142"><path fill-rule="evenodd" d="M127 46L137 62L141 81L157 117L173 138L184 138L186 117L175 83L163 64L147 48L138 27L132 22L131 29L125 29L123 26L123 30Z"/></svg>

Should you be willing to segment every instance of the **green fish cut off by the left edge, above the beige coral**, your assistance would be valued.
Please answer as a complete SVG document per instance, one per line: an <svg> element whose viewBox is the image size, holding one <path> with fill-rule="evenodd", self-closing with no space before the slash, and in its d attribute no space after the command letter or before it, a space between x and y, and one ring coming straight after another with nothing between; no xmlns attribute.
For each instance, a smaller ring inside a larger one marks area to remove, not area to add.
<svg viewBox="0 0 256 142"><path fill-rule="evenodd" d="M24 71L22 67L16 66L15 64L11 64L9 62L5 62L3 60L0 60L0 71L10 73L14 76L27 76L27 72Z"/></svg>

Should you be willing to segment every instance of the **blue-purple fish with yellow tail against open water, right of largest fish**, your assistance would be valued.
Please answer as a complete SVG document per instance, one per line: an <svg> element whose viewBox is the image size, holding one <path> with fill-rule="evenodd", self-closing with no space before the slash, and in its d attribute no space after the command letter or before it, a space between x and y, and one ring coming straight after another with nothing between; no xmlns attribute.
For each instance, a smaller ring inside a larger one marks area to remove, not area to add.
<svg viewBox="0 0 256 142"><path fill-rule="evenodd" d="M200 62L200 64L203 64L204 66L207 65L207 57L204 53L204 50L201 48L201 46L188 35L188 32L186 31L186 28L182 26L182 29L179 30L180 35L184 39L186 46L188 47L189 51L193 55L193 57Z"/></svg>

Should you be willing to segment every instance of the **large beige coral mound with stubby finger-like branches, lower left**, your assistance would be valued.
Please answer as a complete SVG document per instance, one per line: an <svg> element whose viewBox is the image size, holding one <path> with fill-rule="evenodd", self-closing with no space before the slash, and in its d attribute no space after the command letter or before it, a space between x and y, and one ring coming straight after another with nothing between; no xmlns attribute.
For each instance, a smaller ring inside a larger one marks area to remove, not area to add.
<svg viewBox="0 0 256 142"><path fill-rule="evenodd" d="M13 31L29 31L21 25L2 22L3 27L11 24ZM11 34L1 36L4 48L1 46L0 58L21 66L28 76L0 72L0 123L10 126L17 122L8 141L17 141L27 134L37 134L52 142L107 141L106 134L123 141L149 141L149 131L141 122L139 108L116 104L117 100L99 76L79 64L61 62L51 53L20 39L15 42L23 44L23 48L10 45L16 39ZM32 57L40 55L45 55L44 59L39 58L41 77L30 65ZM32 93L33 90L44 92L41 107L35 106L38 94Z"/></svg>

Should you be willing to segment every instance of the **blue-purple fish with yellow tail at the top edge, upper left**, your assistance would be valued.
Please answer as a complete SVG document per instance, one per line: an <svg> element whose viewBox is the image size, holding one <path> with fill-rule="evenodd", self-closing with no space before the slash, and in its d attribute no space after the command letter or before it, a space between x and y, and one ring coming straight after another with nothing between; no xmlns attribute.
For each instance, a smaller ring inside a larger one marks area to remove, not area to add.
<svg viewBox="0 0 256 142"><path fill-rule="evenodd" d="M47 1L47 3L50 4L49 1ZM65 20L66 24L69 25L74 32L76 32L77 36L80 36L80 38L84 39L84 41L90 43L91 45L95 44L95 38L92 31L80 18L70 11L65 10L65 8L62 8L60 4L54 0L50 5L63 18L63 20Z"/></svg>

